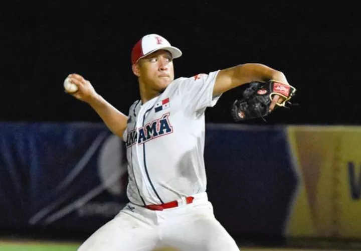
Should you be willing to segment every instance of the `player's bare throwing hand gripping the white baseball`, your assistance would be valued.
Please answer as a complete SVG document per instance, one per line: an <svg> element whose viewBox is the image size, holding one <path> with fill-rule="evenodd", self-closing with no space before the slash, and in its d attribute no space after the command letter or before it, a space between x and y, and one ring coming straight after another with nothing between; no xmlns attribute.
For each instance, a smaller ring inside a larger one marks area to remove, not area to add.
<svg viewBox="0 0 361 251"><path fill-rule="evenodd" d="M69 74L68 77L69 82L76 84L78 90L74 93L67 92L66 90L65 92L84 102L90 102L92 99L96 98L97 93L88 80L76 73Z"/></svg>

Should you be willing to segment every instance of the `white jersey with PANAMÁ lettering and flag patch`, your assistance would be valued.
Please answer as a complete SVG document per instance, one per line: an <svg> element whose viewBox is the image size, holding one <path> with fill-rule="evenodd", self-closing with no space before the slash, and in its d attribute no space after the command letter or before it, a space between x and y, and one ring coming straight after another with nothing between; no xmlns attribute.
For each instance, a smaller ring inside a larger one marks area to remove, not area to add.
<svg viewBox="0 0 361 251"><path fill-rule="evenodd" d="M205 110L218 71L181 77L158 96L129 108L127 196L138 205L162 204L206 191Z"/></svg>

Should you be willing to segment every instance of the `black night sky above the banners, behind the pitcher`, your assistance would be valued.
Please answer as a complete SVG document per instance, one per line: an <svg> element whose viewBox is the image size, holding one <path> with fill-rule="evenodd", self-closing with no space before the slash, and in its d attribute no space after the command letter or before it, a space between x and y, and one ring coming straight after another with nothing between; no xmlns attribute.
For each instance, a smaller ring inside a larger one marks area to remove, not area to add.
<svg viewBox="0 0 361 251"><path fill-rule="evenodd" d="M182 4L181 4L182 3ZM175 77L241 63L266 64L297 88L294 106L268 124L361 124L357 2L12 1L0 8L0 120L101 121L64 93L79 73L124 113L138 98L130 51L157 33L183 51ZM241 88L208 109L208 122L232 122ZM248 121L247 123L263 123Z"/></svg>

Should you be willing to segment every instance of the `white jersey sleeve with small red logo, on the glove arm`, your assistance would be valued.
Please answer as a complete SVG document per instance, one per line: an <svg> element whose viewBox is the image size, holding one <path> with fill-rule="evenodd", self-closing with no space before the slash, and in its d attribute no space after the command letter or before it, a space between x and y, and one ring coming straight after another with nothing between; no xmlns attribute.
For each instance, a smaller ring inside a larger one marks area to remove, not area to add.
<svg viewBox="0 0 361 251"><path fill-rule="evenodd" d="M222 94L214 97L213 88L219 71L183 78L178 83L179 94L188 109L204 112L207 107L213 107L217 103Z"/></svg>

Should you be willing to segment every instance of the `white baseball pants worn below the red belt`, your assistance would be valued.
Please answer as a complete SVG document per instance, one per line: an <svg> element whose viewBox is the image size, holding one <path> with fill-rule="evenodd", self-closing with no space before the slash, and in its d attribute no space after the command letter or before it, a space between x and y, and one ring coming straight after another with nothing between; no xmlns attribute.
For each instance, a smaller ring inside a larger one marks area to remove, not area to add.
<svg viewBox="0 0 361 251"><path fill-rule="evenodd" d="M207 193L193 203L153 211L128 203L95 231L78 251L151 251L171 246L182 251L239 251L234 239L215 218Z"/></svg>

